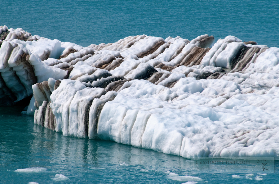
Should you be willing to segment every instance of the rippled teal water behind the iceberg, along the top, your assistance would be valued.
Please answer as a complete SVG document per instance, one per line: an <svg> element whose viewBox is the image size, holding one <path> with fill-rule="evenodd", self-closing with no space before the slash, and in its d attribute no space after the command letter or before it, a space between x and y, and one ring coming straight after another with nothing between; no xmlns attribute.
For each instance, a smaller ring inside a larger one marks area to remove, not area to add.
<svg viewBox="0 0 279 184"><path fill-rule="evenodd" d="M134 35L217 40L234 35L279 46L278 0L6 0L0 25L82 46Z"/></svg>

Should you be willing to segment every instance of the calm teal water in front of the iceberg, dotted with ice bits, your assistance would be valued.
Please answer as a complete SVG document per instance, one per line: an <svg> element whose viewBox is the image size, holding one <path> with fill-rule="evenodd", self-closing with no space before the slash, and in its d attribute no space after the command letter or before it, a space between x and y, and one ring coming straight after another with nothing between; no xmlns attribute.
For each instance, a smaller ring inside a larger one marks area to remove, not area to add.
<svg viewBox="0 0 279 184"><path fill-rule="evenodd" d="M191 161L180 156L135 148L112 141L64 137L59 132L33 123L20 114L23 107L0 108L0 183L184 183L168 178L165 172L200 177L198 183L278 183L275 173L262 181L249 180L249 173L191 173ZM121 166L125 162L127 166ZM16 169L46 168L41 173L18 173ZM144 170L142 170L144 169ZM68 177L53 181L56 174ZM241 178L232 178L233 174ZM253 173L255 176L257 173ZM255 177L254 176L254 177Z"/></svg>

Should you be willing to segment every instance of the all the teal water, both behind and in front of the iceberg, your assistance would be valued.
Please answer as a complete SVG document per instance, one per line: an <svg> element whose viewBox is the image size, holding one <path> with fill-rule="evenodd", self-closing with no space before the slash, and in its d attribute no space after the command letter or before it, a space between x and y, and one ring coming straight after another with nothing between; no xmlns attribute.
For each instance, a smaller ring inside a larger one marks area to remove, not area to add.
<svg viewBox="0 0 279 184"><path fill-rule="evenodd" d="M234 35L243 41L279 47L276 0L7 0L0 7L0 25L82 46L113 43L130 35L191 40L209 34L215 41ZM268 173L261 181L247 179L245 174L250 173L191 173L191 161L180 156L112 141L64 137L35 125L32 116L20 114L23 108L0 108L1 184L186 182L171 180L166 172L203 179L198 184L279 181L279 161L275 161L275 173ZM23 168L43 169L14 172ZM56 174L69 179L55 181ZM233 174L241 177L233 178Z"/></svg>

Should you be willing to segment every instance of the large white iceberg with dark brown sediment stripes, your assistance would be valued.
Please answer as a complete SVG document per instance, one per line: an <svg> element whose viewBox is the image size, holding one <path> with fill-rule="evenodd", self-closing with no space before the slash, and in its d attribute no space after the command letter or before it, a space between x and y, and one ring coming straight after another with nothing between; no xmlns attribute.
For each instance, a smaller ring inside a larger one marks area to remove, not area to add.
<svg viewBox="0 0 279 184"><path fill-rule="evenodd" d="M209 48L209 35L81 47L7 26L0 38L0 104L33 94L35 124L189 159L279 159L277 47L227 36Z"/></svg>

